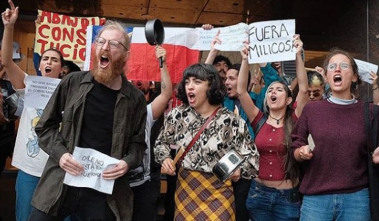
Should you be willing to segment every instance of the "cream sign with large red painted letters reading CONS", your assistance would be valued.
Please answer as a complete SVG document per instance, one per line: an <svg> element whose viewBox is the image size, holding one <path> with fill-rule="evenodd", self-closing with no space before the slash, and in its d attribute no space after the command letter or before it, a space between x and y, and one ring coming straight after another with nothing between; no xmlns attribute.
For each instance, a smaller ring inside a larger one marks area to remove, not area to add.
<svg viewBox="0 0 379 221"><path fill-rule="evenodd" d="M104 18L71 17L38 10L41 23L35 30L34 52L41 55L49 48L57 48L64 59L83 63L86 52L86 33L89 25L102 25Z"/></svg>

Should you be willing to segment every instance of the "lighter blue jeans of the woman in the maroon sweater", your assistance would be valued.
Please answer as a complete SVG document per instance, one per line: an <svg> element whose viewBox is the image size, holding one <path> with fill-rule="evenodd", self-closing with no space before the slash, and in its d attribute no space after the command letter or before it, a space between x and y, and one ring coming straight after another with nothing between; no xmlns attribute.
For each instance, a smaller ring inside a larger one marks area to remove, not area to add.
<svg viewBox="0 0 379 221"><path fill-rule="evenodd" d="M369 190L328 195L304 195L301 221L370 221Z"/></svg>

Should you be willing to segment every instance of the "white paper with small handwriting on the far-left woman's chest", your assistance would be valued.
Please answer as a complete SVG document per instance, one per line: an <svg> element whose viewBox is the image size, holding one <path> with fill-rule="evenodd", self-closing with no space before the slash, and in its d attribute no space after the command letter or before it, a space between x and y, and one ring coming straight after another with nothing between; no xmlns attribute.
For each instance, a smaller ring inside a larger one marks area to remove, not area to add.
<svg viewBox="0 0 379 221"><path fill-rule="evenodd" d="M24 106L26 108L45 109L60 82L61 80L56 78L29 75L26 78Z"/></svg>

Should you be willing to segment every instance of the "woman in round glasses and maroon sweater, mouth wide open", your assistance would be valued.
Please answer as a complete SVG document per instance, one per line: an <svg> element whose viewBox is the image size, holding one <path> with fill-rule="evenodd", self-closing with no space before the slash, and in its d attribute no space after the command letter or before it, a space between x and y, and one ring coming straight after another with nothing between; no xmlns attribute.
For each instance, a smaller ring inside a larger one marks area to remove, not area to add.
<svg viewBox="0 0 379 221"><path fill-rule="evenodd" d="M324 69L332 95L309 103L292 132L293 157L304 167L300 220L370 221L364 102L355 97L358 67L347 52L334 50Z"/></svg>

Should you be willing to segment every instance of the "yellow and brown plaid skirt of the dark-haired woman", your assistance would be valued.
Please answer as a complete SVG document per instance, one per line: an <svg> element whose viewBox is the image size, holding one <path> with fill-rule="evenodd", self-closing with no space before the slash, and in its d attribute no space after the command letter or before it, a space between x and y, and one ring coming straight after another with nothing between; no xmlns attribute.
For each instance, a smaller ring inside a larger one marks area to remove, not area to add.
<svg viewBox="0 0 379 221"><path fill-rule="evenodd" d="M235 221L231 181L213 173L180 168L175 192L175 221Z"/></svg>

